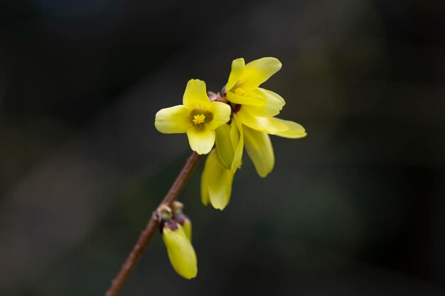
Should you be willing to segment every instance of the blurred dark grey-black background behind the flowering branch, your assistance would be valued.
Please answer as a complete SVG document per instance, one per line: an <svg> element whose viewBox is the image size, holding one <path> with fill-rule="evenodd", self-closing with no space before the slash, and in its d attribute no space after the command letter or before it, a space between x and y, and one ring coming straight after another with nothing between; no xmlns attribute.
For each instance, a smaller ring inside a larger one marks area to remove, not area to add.
<svg viewBox="0 0 445 296"><path fill-rule="evenodd" d="M230 63L309 135L248 158L223 212L181 194L198 278L159 236L122 295L445 295L445 4L0 4L0 295L102 295L190 153L154 114Z"/></svg>

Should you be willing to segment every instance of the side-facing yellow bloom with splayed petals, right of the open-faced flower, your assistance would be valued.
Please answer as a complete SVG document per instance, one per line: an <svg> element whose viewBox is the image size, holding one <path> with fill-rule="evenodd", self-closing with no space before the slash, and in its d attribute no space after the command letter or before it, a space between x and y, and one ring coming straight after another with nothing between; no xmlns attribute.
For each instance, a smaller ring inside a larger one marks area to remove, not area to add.
<svg viewBox="0 0 445 296"><path fill-rule="evenodd" d="M232 71L225 87L227 100L232 103L232 119L242 125L247 154L261 177L274 168L274 150L269 134L284 138L306 136L304 127L294 121L277 119L285 102L274 92L259 87L282 67L274 57L263 57L245 65L240 58L232 62Z"/></svg>

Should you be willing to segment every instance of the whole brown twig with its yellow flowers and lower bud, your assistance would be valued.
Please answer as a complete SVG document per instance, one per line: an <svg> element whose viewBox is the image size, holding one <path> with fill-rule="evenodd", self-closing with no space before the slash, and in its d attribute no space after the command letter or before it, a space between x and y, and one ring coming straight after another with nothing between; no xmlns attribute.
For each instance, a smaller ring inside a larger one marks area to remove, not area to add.
<svg viewBox="0 0 445 296"><path fill-rule="evenodd" d="M269 135L306 136L300 124L275 117L286 103L279 94L260 87L281 67L282 63L274 57L263 57L247 64L242 58L233 60L227 84L220 93L206 92L205 82L190 80L183 94L183 104L156 113L156 129L161 133L186 133L194 153L154 212L107 296L117 295L122 289L156 226L159 226L176 273L186 279L198 274L191 244L191 221L183 214L183 204L175 199L200 155L208 154L201 176L201 201L223 210L230 201L233 177L242 166L244 149L258 175L266 177L274 168L274 149Z"/></svg>

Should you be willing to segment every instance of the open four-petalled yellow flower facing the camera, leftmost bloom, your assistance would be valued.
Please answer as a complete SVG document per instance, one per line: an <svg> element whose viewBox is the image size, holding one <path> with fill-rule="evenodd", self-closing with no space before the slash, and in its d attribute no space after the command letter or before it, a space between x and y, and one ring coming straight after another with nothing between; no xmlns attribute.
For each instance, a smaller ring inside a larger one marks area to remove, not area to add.
<svg viewBox="0 0 445 296"><path fill-rule="evenodd" d="M230 106L210 102L201 80L189 80L183 105L161 109L154 125L161 133L187 133L191 149L207 154L215 144L215 129L230 120Z"/></svg>

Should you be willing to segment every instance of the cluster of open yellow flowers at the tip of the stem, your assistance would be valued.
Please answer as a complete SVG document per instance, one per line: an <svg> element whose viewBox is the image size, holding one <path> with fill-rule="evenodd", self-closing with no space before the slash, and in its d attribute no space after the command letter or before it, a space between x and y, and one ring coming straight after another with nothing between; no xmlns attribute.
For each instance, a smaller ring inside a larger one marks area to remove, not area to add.
<svg viewBox="0 0 445 296"><path fill-rule="evenodd" d="M259 87L281 67L281 62L274 57L263 57L247 64L239 58L232 62L232 71L221 94L207 93L203 81L190 80L183 105L161 109L156 114L158 131L187 133L191 149L198 154L208 154L201 177L203 204L210 202L215 209L221 210L227 206L244 148L258 175L266 177L274 168L269 135L306 136L300 124L275 117L282 110L284 99ZM168 255L179 273L170 251Z"/></svg>

